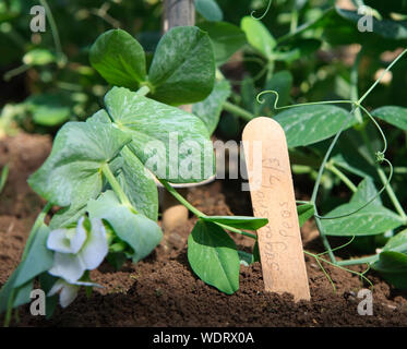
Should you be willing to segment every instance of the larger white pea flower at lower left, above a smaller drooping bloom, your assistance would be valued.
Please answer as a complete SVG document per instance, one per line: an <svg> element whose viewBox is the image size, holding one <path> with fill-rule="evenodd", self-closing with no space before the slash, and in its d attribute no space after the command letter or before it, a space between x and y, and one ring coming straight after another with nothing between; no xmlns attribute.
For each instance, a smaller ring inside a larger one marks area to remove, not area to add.
<svg viewBox="0 0 407 349"><path fill-rule="evenodd" d="M85 270L97 268L108 253L101 220L92 219L89 231L84 224L85 217L81 217L76 228L56 229L48 236L47 248L56 251L48 273L69 284L75 284Z"/></svg>

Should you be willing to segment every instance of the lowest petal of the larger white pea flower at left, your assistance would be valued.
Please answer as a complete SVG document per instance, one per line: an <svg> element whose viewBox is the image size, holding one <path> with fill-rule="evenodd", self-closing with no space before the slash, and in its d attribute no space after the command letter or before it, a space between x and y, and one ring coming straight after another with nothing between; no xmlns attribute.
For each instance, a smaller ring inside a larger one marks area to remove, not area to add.
<svg viewBox="0 0 407 349"><path fill-rule="evenodd" d="M86 266L76 255L57 252L53 255L53 266L48 273L74 284L82 277L85 269Z"/></svg>

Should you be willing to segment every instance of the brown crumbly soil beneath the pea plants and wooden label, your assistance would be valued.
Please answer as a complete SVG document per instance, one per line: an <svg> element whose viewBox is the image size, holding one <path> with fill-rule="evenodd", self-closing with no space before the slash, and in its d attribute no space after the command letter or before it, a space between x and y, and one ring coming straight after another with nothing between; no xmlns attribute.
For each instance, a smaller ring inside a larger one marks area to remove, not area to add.
<svg viewBox="0 0 407 349"><path fill-rule="evenodd" d="M10 164L10 176L0 202L0 286L17 266L25 240L44 201L27 185L27 177L49 154L51 140L20 133L0 140L0 167ZM251 214L249 193L236 195L239 183L216 181L192 189L188 198L206 214ZM407 293L393 289L369 273L374 285L373 315L357 312L358 291L367 287L359 277L324 265L336 292L315 260L306 256L311 301L295 303L289 294L265 292L261 265L241 266L240 289L226 296L201 281L187 260L187 239L195 218L184 227L166 232L161 244L144 261L127 263L120 272L103 264L92 273L104 286L87 299L81 291L67 309L58 308L46 321L32 316L28 305L20 308L13 326L407 326ZM304 249L322 252L312 222L302 228ZM250 251L252 241L237 238ZM352 267L362 270L362 266ZM0 316L0 321L3 317Z"/></svg>

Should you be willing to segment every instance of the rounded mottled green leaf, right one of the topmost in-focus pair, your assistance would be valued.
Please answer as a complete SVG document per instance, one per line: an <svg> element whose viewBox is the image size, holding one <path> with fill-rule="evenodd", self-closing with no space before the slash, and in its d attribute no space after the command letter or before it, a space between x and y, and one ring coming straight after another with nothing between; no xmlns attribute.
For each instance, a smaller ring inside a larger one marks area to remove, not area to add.
<svg viewBox="0 0 407 349"><path fill-rule="evenodd" d="M159 40L148 71L154 99L181 105L206 98L215 83L215 58L208 35L178 26Z"/></svg>

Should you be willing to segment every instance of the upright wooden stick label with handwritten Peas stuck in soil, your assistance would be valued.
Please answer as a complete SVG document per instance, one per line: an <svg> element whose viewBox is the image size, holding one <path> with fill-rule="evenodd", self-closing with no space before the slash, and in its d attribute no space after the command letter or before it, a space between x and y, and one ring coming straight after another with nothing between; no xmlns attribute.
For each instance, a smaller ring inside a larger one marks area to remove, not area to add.
<svg viewBox="0 0 407 349"><path fill-rule="evenodd" d="M249 176L253 213L268 218L268 224L258 230L265 290L291 293L295 301L310 300L284 130L271 118L255 118L244 128L242 139L248 172L250 168L252 173L258 172ZM260 154L252 151L254 143L261 144L259 167L254 158Z"/></svg>

